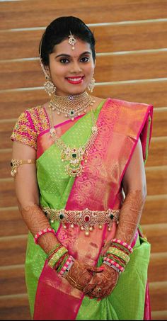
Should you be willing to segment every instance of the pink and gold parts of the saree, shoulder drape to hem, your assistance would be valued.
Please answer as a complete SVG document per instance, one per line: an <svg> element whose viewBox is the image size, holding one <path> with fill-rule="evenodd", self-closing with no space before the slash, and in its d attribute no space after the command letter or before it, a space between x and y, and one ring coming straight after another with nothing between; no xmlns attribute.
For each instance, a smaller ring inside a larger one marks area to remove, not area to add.
<svg viewBox="0 0 167 321"><path fill-rule="evenodd" d="M88 154L84 172L74 180L66 210L121 208L122 177L139 137L146 159L151 118L152 106L108 98L98 116L98 137ZM102 229L94 227L89 236L78 226L74 229L67 226L64 230L60 224L57 239L75 259L95 266L104 241L113 238L115 232L116 223L111 231L106 225ZM34 320L76 320L83 298L81 291L58 276L45 261L35 297Z"/></svg>

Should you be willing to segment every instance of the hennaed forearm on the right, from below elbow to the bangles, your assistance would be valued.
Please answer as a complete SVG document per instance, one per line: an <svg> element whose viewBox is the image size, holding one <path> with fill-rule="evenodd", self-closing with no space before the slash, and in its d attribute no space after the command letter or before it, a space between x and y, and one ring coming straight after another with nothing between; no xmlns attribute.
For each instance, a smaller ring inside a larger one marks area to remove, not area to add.
<svg viewBox="0 0 167 321"><path fill-rule="evenodd" d="M144 191L129 191L120 210L120 222L115 237L132 244L139 225L146 195Z"/></svg>

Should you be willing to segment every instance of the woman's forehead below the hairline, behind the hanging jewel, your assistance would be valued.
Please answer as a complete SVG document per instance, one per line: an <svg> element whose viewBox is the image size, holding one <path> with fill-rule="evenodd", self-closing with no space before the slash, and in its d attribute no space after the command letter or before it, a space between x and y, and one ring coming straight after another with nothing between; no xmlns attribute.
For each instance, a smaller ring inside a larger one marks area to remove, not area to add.
<svg viewBox="0 0 167 321"><path fill-rule="evenodd" d="M61 53L71 55L73 53L74 55L80 55L82 52L90 51L91 47L89 43L86 43L85 41L76 38L76 44L74 45L75 49L72 50L72 45L68 43L69 39L65 39L62 41L62 43L59 43L58 45L54 46L54 53L57 55L60 55Z"/></svg>

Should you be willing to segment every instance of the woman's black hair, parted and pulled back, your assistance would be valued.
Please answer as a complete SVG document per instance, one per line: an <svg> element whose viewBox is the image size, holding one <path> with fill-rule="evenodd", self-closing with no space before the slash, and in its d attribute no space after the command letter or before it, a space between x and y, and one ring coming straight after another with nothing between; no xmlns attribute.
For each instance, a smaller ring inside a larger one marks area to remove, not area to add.
<svg viewBox="0 0 167 321"><path fill-rule="evenodd" d="M91 47L93 61L96 60L95 43L96 40L92 31L86 26L84 21L73 16L64 16L54 19L47 26L45 33L43 33L40 40L39 53L42 63L45 66L49 65L49 55L53 52L54 45L62 43L71 34L76 36L86 43L89 43Z"/></svg>

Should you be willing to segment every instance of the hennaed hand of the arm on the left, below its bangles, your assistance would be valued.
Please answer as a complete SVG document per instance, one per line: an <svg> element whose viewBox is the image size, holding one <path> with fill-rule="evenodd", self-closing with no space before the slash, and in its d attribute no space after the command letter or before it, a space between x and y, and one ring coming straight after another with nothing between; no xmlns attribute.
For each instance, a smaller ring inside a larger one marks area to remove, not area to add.
<svg viewBox="0 0 167 321"><path fill-rule="evenodd" d="M96 266L90 266L75 260L74 264L71 266L66 278L74 288L78 288L80 291L83 291L84 287L91 281L93 272L100 271L100 268Z"/></svg>

